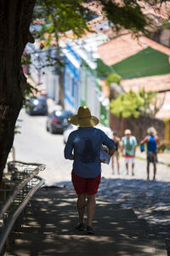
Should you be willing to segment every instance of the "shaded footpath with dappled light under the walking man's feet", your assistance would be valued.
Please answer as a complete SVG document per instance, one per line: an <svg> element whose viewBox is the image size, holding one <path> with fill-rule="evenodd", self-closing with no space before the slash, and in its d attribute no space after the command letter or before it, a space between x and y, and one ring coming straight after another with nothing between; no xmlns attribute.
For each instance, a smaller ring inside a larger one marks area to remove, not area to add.
<svg viewBox="0 0 170 256"><path fill-rule="evenodd" d="M72 189L39 189L28 207L26 224L5 255L167 255L165 242L151 233L146 221L137 218L133 209L99 197L94 217L95 235L75 230L75 224L76 195Z"/></svg>

